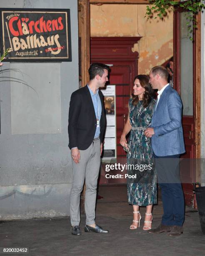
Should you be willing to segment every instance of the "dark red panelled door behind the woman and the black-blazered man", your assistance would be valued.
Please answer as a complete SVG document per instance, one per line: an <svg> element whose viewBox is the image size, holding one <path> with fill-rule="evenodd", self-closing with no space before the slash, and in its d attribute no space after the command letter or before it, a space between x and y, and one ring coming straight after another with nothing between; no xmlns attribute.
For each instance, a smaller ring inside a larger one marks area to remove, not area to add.
<svg viewBox="0 0 205 256"><path fill-rule="evenodd" d="M116 93L116 137L117 162L123 163L126 153L120 145L120 137L128 117L128 100L133 89L133 80L138 73L138 52L132 47L140 37L100 37L90 40L90 62L110 65L109 84L115 85ZM121 160L119 159L121 158ZM111 174L111 173L110 173ZM121 174L114 170L112 174ZM100 184L122 184L126 179L105 179L101 174Z"/></svg>

